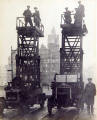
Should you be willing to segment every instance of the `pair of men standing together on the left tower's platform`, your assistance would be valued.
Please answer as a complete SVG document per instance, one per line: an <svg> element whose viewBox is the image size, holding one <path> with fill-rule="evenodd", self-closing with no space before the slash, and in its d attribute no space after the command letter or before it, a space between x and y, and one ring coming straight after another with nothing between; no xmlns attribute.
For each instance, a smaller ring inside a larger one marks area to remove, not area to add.
<svg viewBox="0 0 97 120"><path fill-rule="evenodd" d="M30 6L27 6L27 9L24 11L23 15L25 17L25 26L27 26L27 24L29 23L30 26L33 27L33 23L32 23L32 19L31 17L34 18L34 23L37 27L40 27L40 14L39 14L39 10L37 7L34 7L35 12L32 14L31 10L30 10Z"/></svg>

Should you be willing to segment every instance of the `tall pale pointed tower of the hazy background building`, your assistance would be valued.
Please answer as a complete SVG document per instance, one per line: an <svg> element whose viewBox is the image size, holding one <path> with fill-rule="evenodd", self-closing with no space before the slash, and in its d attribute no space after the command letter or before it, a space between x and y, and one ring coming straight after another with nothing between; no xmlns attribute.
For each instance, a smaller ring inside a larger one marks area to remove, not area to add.
<svg viewBox="0 0 97 120"><path fill-rule="evenodd" d="M49 81L53 81L55 73L60 71L60 48L59 35L53 28L51 34L48 35L48 59L49 59Z"/></svg>

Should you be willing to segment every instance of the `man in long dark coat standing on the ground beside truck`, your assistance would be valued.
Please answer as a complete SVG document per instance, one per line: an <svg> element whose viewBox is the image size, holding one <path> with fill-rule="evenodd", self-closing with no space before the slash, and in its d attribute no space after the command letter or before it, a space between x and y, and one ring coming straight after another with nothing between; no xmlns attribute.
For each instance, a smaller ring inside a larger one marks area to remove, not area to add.
<svg viewBox="0 0 97 120"><path fill-rule="evenodd" d="M85 86L85 102L87 104L87 112L93 114L94 96L96 95L95 84L92 83L92 78L88 78L88 84Z"/></svg>

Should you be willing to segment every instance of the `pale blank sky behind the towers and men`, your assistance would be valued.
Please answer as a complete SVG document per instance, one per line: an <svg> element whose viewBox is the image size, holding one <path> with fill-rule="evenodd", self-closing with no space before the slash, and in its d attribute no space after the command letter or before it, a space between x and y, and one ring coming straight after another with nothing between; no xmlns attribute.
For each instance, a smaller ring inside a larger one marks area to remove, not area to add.
<svg viewBox="0 0 97 120"><path fill-rule="evenodd" d="M84 69L96 65L96 5L97 0L82 0L85 6L85 23L88 34L83 38ZM61 43L61 14L68 7L71 11L78 7L77 0L0 0L0 65L8 64L8 56L17 48L16 17L23 16L26 6L31 11L37 6L40 11L42 23L45 28L44 38L40 45L47 45L47 36L53 27L59 34ZM91 74L91 73L90 73Z"/></svg>

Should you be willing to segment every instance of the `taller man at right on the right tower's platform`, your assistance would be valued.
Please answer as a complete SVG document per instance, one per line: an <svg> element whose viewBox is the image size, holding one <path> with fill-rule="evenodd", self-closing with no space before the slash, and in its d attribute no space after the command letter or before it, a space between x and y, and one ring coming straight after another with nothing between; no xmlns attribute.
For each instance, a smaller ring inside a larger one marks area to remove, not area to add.
<svg viewBox="0 0 97 120"><path fill-rule="evenodd" d="M82 20L85 16L84 14L84 5L81 4L81 1L78 1L78 8L75 8L75 15L74 15L74 24L77 26L82 26Z"/></svg>

